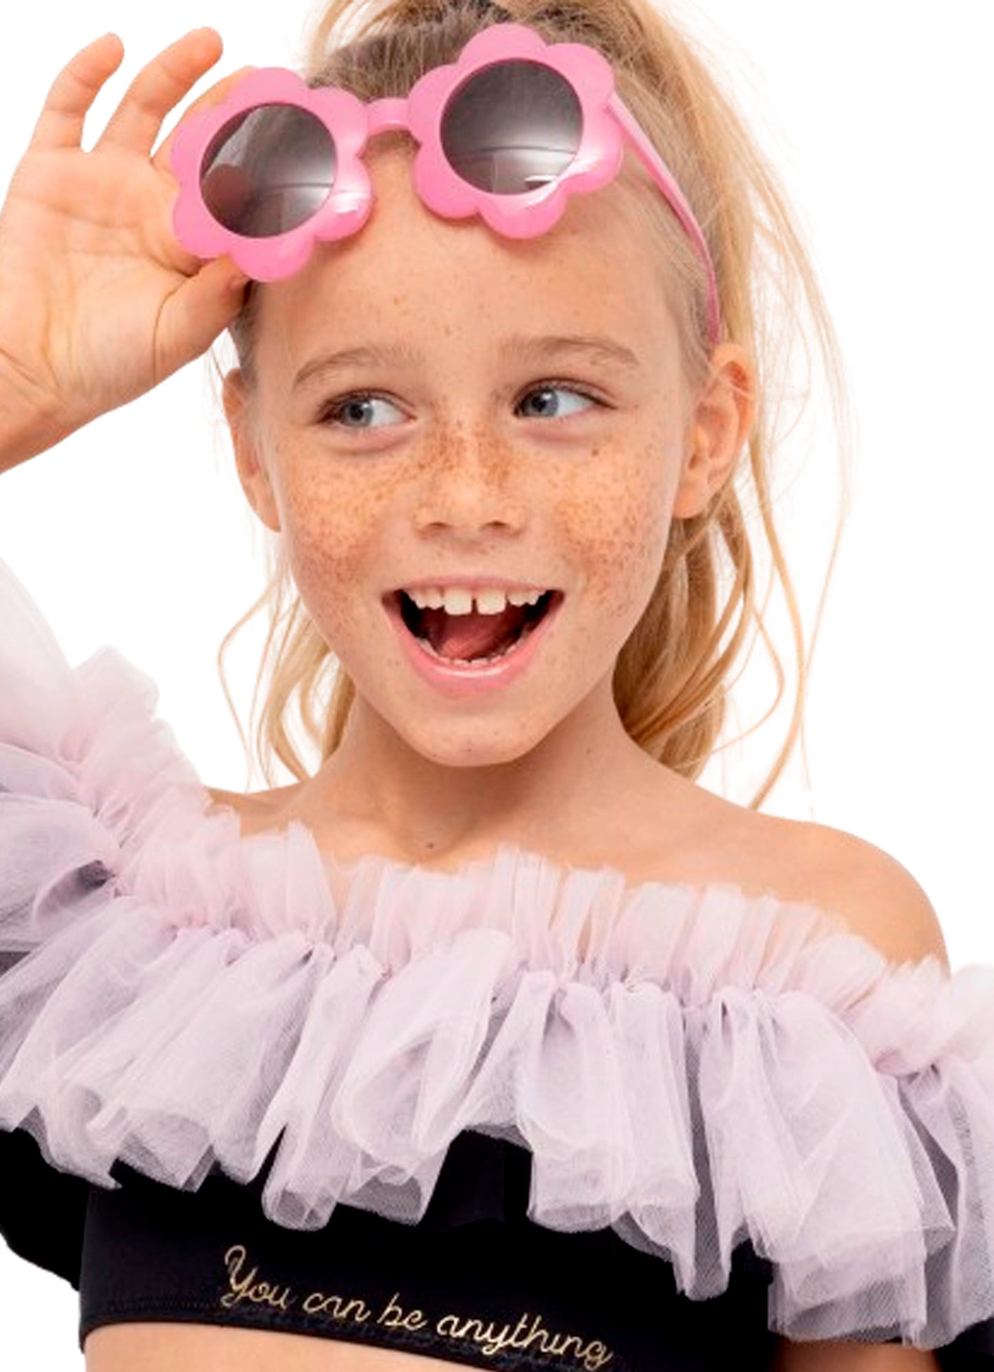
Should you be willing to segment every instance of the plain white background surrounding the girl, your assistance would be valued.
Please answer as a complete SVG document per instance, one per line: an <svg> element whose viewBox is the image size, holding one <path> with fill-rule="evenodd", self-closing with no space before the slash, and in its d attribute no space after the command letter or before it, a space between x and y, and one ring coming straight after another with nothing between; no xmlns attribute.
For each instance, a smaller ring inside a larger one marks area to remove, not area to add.
<svg viewBox="0 0 994 1372"><path fill-rule="evenodd" d="M49 0L15 12L0 44L1 185L56 70L90 38L114 29L126 56L88 144L137 67L186 29L221 32L218 75L248 62L292 64L307 7ZM823 10L680 0L679 12L717 54L792 195L858 424L854 506L814 654L809 774L795 763L765 808L893 853L938 910L953 966L987 962L993 11L978 0L941 11L920 0ZM255 598L260 563L207 373L195 364L7 473L0 557L71 661L114 643L159 683L160 712L202 778L244 789L214 654ZM836 494L827 414L809 428L806 494L791 493L783 524L808 623ZM258 645L251 631L244 638L233 659L243 709ZM777 642L788 654L783 628ZM762 656L760 645L754 660ZM768 678L751 690L734 733L772 701ZM779 713L760 748L731 752L705 782L746 803L784 727ZM0 1251L0 1291L4 1367L81 1365L66 1283Z"/></svg>

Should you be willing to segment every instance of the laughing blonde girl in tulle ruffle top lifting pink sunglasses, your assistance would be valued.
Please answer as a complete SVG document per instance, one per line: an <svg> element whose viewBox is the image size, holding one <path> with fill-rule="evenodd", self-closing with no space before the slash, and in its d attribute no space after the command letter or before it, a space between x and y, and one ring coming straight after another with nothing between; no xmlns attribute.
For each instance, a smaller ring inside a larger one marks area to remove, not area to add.
<svg viewBox="0 0 994 1372"><path fill-rule="evenodd" d="M99 155L118 41L55 82L0 465L230 329L298 779L206 789L4 569L0 1232L92 1372L984 1364L994 977L775 777L695 781L743 465L777 550L764 215L820 309L762 161L642 0L333 0L306 84L234 73L152 152L217 58Z"/></svg>

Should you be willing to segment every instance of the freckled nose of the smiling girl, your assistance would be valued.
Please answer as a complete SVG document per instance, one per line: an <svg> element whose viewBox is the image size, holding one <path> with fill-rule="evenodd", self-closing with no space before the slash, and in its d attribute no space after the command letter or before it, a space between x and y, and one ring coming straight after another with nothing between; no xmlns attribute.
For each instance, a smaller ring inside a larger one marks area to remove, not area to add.
<svg viewBox="0 0 994 1372"><path fill-rule="evenodd" d="M418 534L448 530L459 538L524 530L528 510L514 454L484 436L450 438L425 453L414 504Z"/></svg>

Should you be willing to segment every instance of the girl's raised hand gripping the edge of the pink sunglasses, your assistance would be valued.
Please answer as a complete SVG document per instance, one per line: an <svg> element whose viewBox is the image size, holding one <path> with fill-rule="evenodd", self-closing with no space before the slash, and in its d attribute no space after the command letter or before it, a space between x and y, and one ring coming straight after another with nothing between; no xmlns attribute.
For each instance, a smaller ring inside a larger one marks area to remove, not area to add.
<svg viewBox="0 0 994 1372"><path fill-rule="evenodd" d="M171 136L152 156L165 117L219 56L213 29L173 43L89 152L84 119L121 64L121 40L97 38L56 77L0 209L0 466L151 390L240 309L245 279L230 259L202 263L173 235ZM245 70L192 108L223 99Z"/></svg>

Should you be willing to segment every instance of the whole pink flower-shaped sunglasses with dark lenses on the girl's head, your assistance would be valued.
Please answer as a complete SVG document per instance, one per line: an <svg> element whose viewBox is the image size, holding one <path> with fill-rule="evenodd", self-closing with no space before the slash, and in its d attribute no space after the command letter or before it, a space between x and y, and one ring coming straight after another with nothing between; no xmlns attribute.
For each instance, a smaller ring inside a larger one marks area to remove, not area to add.
<svg viewBox="0 0 994 1372"><path fill-rule="evenodd" d="M299 270L315 240L356 233L373 195L367 139L404 129L418 143L414 188L450 220L478 214L498 233L546 233L570 193L621 169L624 140L653 176L707 272L707 336L720 333L707 243L673 174L614 89L610 63L581 43L547 44L521 23L495 23L455 63L435 67L407 99L363 104L262 67L228 99L184 119L171 166L173 226L196 257L228 252L256 281Z"/></svg>

